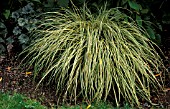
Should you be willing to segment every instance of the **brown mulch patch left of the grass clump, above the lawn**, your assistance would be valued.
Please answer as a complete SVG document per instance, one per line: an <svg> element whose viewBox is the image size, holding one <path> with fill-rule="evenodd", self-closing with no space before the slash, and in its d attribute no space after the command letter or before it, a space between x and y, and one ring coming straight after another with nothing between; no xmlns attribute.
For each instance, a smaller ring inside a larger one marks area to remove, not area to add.
<svg viewBox="0 0 170 109"><path fill-rule="evenodd" d="M20 93L48 107L56 105L57 97L53 87L41 85L36 89L32 72L21 70L18 66L16 60L4 58L0 62L0 92Z"/></svg>

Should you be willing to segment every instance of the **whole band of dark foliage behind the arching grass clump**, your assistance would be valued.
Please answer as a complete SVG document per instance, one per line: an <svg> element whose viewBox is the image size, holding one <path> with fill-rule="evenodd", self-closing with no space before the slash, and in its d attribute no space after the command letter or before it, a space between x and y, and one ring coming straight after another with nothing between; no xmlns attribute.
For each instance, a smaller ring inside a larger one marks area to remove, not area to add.
<svg viewBox="0 0 170 109"><path fill-rule="evenodd" d="M168 0L72 0L81 7L87 3L95 13L95 6L107 8L122 7L138 23L144 27L150 39L163 48L170 48L170 10ZM29 32L36 28L36 16L46 11L71 8L70 0L6 0L0 4L0 55L19 53L31 41Z"/></svg>

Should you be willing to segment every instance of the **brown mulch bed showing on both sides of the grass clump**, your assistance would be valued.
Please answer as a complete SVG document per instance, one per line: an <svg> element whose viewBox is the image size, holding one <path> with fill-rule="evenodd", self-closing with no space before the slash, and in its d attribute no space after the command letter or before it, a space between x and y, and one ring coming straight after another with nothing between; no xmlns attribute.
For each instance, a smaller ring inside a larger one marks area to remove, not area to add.
<svg viewBox="0 0 170 109"><path fill-rule="evenodd" d="M166 68L170 73L170 50L164 51L166 58L164 59ZM57 97L52 87L39 87L35 91L36 84L33 83L32 72L21 70L18 67L18 61L0 57L0 91L1 92L18 92L30 98L37 99L46 106L54 106L57 104ZM159 96L152 95L152 101L159 104L161 108L170 109L170 78L165 75L165 90L160 92ZM145 108L150 105L143 103Z"/></svg>

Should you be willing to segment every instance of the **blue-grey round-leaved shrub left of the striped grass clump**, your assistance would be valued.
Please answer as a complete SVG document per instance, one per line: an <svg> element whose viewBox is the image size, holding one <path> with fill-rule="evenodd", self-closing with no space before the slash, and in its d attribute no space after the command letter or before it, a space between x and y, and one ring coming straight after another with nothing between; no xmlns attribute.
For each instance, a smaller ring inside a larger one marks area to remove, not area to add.
<svg viewBox="0 0 170 109"><path fill-rule="evenodd" d="M13 2L8 5L12 6ZM5 9L1 15L0 55L11 56L12 53L21 52L30 43L29 32L35 29L35 25L33 25L36 22L34 4L23 2L19 5L18 2L15 5L18 6L18 9L17 6Z"/></svg>

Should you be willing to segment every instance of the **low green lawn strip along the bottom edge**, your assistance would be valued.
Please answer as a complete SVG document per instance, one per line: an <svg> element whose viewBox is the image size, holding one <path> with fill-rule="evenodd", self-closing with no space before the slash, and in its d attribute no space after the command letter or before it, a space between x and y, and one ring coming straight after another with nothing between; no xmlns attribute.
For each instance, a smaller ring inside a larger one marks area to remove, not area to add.
<svg viewBox="0 0 170 109"><path fill-rule="evenodd" d="M93 104L63 105L58 107L46 107L34 99L29 99L22 94L0 92L0 109L131 109L128 104L121 108L113 107L106 102Z"/></svg>

